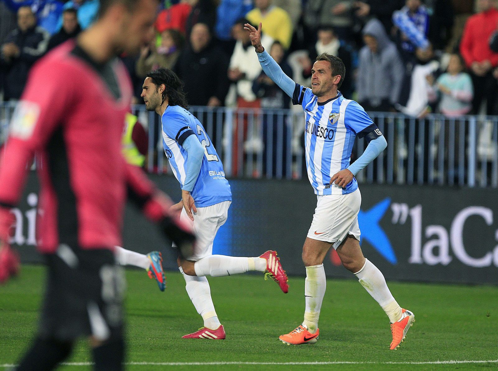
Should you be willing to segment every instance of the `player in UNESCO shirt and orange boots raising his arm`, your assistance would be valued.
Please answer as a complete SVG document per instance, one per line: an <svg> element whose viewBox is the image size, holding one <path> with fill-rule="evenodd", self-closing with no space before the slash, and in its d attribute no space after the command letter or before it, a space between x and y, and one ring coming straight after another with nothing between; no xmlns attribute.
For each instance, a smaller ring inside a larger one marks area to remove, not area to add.
<svg viewBox="0 0 498 371"><path fill-rule="evenodd" d="M245 29L265 74L292 98L293 104L304 109L306 168L317 195L302 254L306 266L304 322L279 339L292 345L317 341L318 317L326 287L322 263L333 247L343 266L356 275L389 317L390 349L396 349L415 316L398 305L382 273L363 256L358 226L362 197L354 177L385 149L387 142L365 110L338 91L346 72L340 58L327 53L319 55L311 70L311 89L305 88L287 77L261 46L261 23L257 30L250 24ZM357 136L365 137L369 144L362 156L350 164Z"/></svg>

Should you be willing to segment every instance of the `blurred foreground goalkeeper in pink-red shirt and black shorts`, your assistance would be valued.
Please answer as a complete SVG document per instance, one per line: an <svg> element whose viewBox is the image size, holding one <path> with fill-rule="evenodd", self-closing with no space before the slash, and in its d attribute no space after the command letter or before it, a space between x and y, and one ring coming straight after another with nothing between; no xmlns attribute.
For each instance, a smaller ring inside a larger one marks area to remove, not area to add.
<svg viewBox="0 0 498 371"><path fill-rule="evenodd" d="M172 203L121 153L132 87L121 52L148 43L156 0L101 0L99 19L31 70L10 123L0 166L0 278L17 270L8 246L9 208L19 200L28 164L40 160L38 249L47 284L34 342L16 370L53 370L88 336L94 370L122 370L124 277L121 245L126 195L191 254L194 236L169 216Z"/></svg>

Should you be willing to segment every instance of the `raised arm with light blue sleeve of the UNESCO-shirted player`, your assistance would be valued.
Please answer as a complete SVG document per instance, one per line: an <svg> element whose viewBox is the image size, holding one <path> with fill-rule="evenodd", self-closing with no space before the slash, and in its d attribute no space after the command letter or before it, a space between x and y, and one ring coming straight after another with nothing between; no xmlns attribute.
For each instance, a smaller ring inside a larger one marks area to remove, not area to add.
<svg viewBox="0 0 498 371"><path fill-rule="evenodd" d="M244 25L244 29L249 32L249 38L252 46L256 50L257 58L259 64L263 68L264 73L273 82L280 87L288 96L292 98L294 90L296 89L296 83L287 75L285 75L280 68L280 66L275 62L273 58L264 50L261 45L261 23L256 30L249 23Z"/></svg>

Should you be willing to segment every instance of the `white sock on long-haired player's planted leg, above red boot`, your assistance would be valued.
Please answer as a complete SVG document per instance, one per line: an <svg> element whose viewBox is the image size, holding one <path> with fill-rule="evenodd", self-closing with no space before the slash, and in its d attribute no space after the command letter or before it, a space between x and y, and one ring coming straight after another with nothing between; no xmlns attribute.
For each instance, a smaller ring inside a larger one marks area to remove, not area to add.
<svg viewBox="0 0 498 371"><path fill-rule="evenodd" d="M194 304L197 313L199 313L204 320L204 327L216 330L220 327L221 323L216 314L213 299L211 298L211 288L209 287L208 279L206 277L188 276L183 273L181 267L179 269L183 278L185 278L185 289L187 290L188 296L190 297L192 304Z"/></svg>

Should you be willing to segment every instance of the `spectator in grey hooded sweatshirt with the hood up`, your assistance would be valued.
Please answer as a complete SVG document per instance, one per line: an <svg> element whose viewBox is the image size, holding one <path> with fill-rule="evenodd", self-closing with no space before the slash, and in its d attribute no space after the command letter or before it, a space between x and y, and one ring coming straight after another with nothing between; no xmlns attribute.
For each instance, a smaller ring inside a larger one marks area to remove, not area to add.
<svg viewBox="0 0 498 371"><path fill-rule="evenodd" d="M370 20L363 29L365 46L360 49L358 102L366 111L388 111L398 101L403 63L382 23Z"/></svg>

